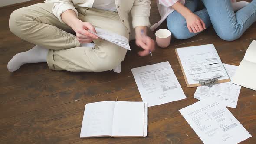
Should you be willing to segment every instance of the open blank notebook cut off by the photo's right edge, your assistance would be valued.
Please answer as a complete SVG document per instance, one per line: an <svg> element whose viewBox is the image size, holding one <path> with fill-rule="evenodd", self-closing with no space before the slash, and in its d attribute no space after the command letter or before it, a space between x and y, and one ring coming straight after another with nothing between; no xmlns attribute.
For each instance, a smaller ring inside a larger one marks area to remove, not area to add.
<svg viewBox="0 0 256 144"><path fill-rule="evenodd" d="M250 88L256 91L256 41L250 44L246 50L245 56L240 63L236 74L233 78L233 83Z"/></svg>

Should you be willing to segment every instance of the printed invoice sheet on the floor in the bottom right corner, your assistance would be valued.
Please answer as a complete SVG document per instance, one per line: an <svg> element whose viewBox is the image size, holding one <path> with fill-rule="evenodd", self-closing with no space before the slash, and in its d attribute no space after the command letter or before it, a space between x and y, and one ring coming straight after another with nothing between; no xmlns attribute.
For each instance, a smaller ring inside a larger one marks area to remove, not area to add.
<svg viewBox="0 0 256 144"><path fill-rule="evenodd" d="M220 101L203 99L180 112L204 144L237 144L252 137Z"/></svg>

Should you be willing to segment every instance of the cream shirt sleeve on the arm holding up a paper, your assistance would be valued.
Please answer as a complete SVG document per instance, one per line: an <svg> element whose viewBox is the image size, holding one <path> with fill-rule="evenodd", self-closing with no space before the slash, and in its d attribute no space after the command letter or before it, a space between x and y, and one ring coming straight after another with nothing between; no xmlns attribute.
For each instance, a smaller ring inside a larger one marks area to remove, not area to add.
<svg viewBox="0 0 256 144"><path fill-rule="evenodd" d="M61 14L66 10L73 10L76 13L76 17L78 16L78 12L75 9L72 0L51 0L51 2L54 3L53 14L59 19L61 23L65 23L61 18Z"/></svg>

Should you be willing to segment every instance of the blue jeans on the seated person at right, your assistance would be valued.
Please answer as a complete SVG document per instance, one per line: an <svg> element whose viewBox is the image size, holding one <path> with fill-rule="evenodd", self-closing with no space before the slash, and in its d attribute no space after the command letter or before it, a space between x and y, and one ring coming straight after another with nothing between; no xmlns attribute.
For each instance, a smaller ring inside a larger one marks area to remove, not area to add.
<svg viewBox="0 0 256 144"><path fill-rule="evenodd" d="M191 5L196 5L198 0L186 0L187 8L191 10ZM230 0L202 0L206 10L195 12L206 24L210 26L212 23L213 28L221 39L233 41L246 31L256 21L256 0L253 0L246 7L234 13ZM192 11L193 12L193 11ZM186 20L180 18L176 11L171 13L167 18L168 29L173 33L177 39L188 39L198 33L190 33L185 29ZM210 20L208 19L210 18ZM174 20L180 20L179 22ZM183 21L182 21L183 20ZM183 23L183 26L181 25Z"/></svg>

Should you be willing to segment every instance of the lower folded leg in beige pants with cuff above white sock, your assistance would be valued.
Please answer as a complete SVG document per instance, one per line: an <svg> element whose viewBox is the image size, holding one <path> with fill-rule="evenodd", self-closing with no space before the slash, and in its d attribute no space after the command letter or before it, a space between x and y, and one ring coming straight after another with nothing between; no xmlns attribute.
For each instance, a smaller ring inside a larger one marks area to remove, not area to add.
<svg viewBox="0 0 256 144"><path fill-rule="evenodd" d="M95 42L95 48L76 47L49 51L49 68L72 72L103 72L115 69L124 60L127 49L102 39Z"/></svg>

